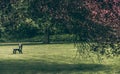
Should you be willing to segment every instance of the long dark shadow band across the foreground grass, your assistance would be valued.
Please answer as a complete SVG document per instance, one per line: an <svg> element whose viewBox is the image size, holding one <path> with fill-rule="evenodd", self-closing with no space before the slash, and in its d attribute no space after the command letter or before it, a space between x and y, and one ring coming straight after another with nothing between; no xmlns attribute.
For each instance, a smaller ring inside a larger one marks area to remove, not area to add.
<svg viewBox="0 0 120 74"><path fill-rule="evenodd" d="M32 61L32 60L31 60ZM101 64L57 64L44 61L0 61L0 74L36 74L35 72L85 71L97 72L110 69Z"/></svg>

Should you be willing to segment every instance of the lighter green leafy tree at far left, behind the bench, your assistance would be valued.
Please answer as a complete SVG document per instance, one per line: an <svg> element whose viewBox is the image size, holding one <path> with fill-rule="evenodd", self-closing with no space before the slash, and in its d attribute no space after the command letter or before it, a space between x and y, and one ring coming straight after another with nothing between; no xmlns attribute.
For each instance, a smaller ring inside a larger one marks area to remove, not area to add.
<svg viewBox="0 0 120 74"><path fill-rule="evenodd" d="M1 1L1 26L4 38L23 39L37 34L35 22L28 17L29 2L24 0ZM24 29L24 30L23 30Z"/></svg>

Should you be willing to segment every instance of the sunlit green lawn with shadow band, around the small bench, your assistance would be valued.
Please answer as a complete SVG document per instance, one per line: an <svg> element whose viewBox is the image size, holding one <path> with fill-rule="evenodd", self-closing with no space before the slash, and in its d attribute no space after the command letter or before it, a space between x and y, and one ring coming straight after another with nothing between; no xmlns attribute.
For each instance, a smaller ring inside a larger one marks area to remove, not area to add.
<svg viewBox="0 0 120 74"><path fill-rule="evenodd" d="M120 57L102 64L74 58L73 44L24 45L23 54L12 54L13 48L0 46L0 74L120 74Z"/></svg>

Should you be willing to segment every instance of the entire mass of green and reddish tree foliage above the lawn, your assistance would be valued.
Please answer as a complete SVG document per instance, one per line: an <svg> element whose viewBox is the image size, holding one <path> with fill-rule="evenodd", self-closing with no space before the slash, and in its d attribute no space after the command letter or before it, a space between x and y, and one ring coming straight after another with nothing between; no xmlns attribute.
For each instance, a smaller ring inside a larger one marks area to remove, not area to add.
<svg viewBox="0 0 120 74"><path fill-rule="evenodd" d="M72 34L76 47L120 53L119 0L0 0L0 27L1 38L42 35L49 43L50 35Z"/></svg>

